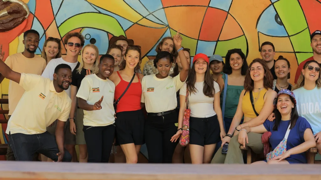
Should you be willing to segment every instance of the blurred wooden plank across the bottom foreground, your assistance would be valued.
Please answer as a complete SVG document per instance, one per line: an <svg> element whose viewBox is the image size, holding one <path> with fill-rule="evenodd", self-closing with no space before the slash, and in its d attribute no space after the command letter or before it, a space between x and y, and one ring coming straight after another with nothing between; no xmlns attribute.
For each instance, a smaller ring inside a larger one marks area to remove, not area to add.
<svg viewBox="0 0 321 180"><path fill-rule="evenodd" d="M0 162L0 179L6 180L284 180L284 177L321 179L320 166Z"/></svg>

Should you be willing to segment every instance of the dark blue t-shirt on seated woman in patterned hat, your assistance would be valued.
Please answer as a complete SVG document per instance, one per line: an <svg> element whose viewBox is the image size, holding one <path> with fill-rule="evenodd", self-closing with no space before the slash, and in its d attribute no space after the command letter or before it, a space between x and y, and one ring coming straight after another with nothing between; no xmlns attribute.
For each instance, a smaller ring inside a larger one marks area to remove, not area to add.
<svg viewBox="0 0 321 180"><path fill-rule="evenodd" d="M265 129L272 133L269 142L272 146L272 151L276 148L277 145L283 140L286 130L289 127L290 120L281 121L277 131L273 131L275 121L265 120L263 123ZM302 143L304 143L304 131L310 128L311 126L308 123L307 119L299 117L295 126L290 130L289 137L286 143L286 149L290 150ZM312 129L311 129L312 130ZM307 158L305 152L300 154L291 154L290 157L285 158L290 164L292 163L307 163Z"/></svg>

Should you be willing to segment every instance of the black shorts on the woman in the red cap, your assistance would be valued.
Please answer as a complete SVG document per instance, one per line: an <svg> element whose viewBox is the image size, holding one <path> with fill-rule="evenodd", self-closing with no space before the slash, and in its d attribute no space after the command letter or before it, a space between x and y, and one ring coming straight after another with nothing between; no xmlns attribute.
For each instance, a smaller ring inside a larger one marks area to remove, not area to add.
<svg viewBox="0 0 321 180"><path fill-rule="evenodd" d="M209 145L221 141L220 124L217 115L208 118L189 118L190 144Z"/></svg>

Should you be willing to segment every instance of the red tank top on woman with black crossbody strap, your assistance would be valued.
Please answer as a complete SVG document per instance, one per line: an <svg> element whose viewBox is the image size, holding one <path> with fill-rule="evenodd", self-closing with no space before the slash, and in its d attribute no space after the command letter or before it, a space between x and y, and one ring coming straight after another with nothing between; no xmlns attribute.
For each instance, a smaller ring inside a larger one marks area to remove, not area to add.
<svg viewBox="0 0 321 180"><path fill-rule="evenodd" d="M129 82L123 80L121 78L119 72L117 74L120 78L120 82L115 87L115 100L117 100L125 91L126 87L128 86ZM117 105L116 112L123 112L123 111L133 111L133 110L140 110L141 107L141 97L142 97L142 84L139 80L138 82L130 84L129 88L127 89L126 93L123 97L119 100Z"/></svg>

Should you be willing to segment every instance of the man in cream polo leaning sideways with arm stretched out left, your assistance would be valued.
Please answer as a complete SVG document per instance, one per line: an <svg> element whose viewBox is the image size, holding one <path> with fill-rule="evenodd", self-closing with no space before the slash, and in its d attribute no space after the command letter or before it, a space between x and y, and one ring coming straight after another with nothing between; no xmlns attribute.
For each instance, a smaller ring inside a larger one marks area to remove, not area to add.
<svg viewBox="0 0 321 180"><path fill-rule="evenodd" d="M17 73L3 61L0 52L0 73L26 91L8 121L6 134L17 161L32 161L39 152L54 161L71 161L71 155L64 150L64 126L68 119L71 99L65 89L71 83L69 65L56 67L54 80L35 74ZM56 119L56 140L46 127Z"/></svg>

